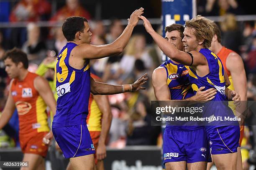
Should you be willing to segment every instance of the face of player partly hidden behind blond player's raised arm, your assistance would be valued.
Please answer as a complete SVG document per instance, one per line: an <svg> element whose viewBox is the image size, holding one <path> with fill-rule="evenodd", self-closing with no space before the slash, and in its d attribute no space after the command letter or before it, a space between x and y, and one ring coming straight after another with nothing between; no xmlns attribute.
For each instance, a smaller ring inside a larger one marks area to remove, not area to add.
<svg viewBox="0 0 256 170"><path fill-rule="evenodd" d="M178 30L173 30L171 32L166 32L165 34L165 39L169 42L172 43L178 50L183 51L183 43L182 43L182 38L180 36L180 33Z"/></svg>

